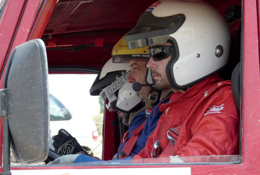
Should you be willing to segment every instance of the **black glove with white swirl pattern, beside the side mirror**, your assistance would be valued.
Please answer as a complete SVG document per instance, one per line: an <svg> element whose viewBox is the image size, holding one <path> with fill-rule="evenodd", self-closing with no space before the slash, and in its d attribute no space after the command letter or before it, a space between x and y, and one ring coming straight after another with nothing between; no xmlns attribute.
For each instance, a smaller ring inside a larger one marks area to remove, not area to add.
<svg viewBox="0 0 260 175"><path fill-rule="evenodd" d="M83 148L80 146L79 142L75 137L71 136L65 129L60 129L58 135L53 136L52 139L53 147L55 151L61 155L89 155Z"/></svg>

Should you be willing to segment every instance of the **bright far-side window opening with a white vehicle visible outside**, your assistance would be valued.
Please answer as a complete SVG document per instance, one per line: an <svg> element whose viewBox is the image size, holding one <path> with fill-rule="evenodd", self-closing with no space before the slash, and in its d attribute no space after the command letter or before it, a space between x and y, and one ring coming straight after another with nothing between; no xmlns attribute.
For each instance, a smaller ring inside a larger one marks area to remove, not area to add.
<svg viewBox="0 0 260 175"><path fill-rule="evenodd" d="M50 114L53 114L50 130L51 136L55 136L60 129L65 129L88 153L102 158L103 113L100 114L99 96L89 95L96 77L87 74L49 75Z"/></svg>

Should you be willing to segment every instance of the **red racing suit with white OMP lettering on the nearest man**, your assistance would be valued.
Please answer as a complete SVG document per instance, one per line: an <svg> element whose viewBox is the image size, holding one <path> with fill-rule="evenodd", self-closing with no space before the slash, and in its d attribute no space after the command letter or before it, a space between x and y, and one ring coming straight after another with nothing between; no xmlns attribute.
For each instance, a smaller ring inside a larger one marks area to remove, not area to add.
<svg viewBox="0 0 260 175"><path fill-rule="evenodd" d="M145 148L133 158L238 155L239 118L231 82L213 75L172 95ZM170 142L170 129L179 135ZM157 147L155 149L155 142Z"/></svg>

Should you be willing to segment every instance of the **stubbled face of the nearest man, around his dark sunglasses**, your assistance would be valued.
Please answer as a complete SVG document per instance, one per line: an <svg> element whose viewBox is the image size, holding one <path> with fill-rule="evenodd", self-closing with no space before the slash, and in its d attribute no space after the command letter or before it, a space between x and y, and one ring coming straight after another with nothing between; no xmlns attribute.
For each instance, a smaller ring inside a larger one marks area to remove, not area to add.
<svg viewBox="0 0 260 175"><path fill-rule="evenodd" d="M160 45L172 45L171 43L164 43ZM171 55L168 58L154 61L152 57L149 59L147 63L147 68L152 70L152 76L155 80L155 88L158 90L169 90L171 89L171 85L166 76L166 66L171 59Z"/></svg>

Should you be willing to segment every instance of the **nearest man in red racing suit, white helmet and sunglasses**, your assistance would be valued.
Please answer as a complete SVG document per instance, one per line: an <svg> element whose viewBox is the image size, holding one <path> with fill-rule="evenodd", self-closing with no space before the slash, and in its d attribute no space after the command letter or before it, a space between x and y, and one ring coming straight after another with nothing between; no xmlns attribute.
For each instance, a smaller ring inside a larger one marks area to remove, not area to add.
<svg viewBox="0 0 260 175"><path fill-rule="evenodd" d="M217 10L200 0L159 0L125 39L129 49L151 45L147 67L156 89L185 90L161 105L156 129L133 158L238 154L231 83L216 75L230 48L227 24Z"/></svg>

